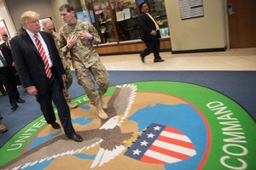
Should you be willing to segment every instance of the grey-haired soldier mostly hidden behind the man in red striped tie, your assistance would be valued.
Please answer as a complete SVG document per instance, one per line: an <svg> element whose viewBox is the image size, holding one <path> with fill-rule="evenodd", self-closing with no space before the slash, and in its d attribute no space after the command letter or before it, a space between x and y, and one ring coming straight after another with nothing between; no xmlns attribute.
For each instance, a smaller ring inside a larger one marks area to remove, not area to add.
<svg viewBox="0 0 256 170"><path fill-rule="evenodd" d="M42 27L43 27L44 31L49 32L54 37L56 47L58 48L58 43L56 42L58 34L54 31L54 25L53 25L52 20L50 20L49 18L42 20ZM72 77L71 69L70 69L71 63L69 63L66 60L65 56L63 56L63 54L61 54L61 53L60 53L60 57L61 57L62 65L65 70L65 75L66 75L66 80L64 82L64 88L63 88L63 94L64 94L65 99L67 100L67 105L69 106L69 108L74 109L74 108L77 108L78 105L76 105L75 103L73 103L73 101L71 101L71 97L68 94L68 88L71 87L72 82L73 82L73 77Z"/></svg>

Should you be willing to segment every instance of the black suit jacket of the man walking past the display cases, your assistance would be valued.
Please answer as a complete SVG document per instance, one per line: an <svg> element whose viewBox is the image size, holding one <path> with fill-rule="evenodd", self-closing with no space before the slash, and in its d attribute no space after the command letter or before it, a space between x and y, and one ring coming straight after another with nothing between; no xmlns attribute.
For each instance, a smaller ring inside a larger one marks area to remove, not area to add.
<svg viewBox="0 0 256 170"><path fill-rule="evenodd" d="M157 35L153 36L150 34L152 30L156 30L153 20L145 13L141 13L137 19L140 35L142 40L150 40L154 38L160 38L160 31L157 31Z"/></svg>

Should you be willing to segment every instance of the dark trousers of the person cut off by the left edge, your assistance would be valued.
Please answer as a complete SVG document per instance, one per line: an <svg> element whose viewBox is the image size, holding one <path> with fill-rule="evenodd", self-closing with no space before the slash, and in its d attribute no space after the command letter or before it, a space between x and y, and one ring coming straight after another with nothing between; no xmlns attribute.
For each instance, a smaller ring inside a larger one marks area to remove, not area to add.
<svg viewBox="0 0 256 170"><path fill-rule="evenodd" d="M15 75L8 67L0 68L0 81L6 88L6 92L9 96L9 103L14 105L16 103L16 99L20 99L20 94L17 89Z"/></svg>

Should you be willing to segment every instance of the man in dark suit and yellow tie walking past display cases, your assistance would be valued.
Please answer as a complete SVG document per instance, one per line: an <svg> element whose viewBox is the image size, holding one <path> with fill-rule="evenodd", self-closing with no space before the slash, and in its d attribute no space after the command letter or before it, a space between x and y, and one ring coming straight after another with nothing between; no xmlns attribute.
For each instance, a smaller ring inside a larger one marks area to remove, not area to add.
<svg viewBox="0 0 256 170"><path fill-rule="evenodd" d="M145 57L154 53L154 62L163 62L164 59L160 57L160 31L159 26L155 22L154 18L148 13L148 4L141 3L139 5L141 14L138 16L138 26L141 34L141 39L147 46L140 54L144 63Z"/></svg>

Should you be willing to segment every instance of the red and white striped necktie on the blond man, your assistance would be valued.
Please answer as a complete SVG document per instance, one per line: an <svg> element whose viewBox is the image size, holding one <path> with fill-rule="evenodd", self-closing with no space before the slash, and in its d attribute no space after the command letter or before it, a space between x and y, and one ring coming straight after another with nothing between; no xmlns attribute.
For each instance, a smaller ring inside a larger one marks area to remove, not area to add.
<svg viewBox="0 0 256 170"><path fill-rule="evenodd" d="M45 69L46 77L50 78L51 77L51 71L50 71L50 68L49 68L49 62L48 62L46 53L44 51L44 47L43 47L42 43L40 42L40 40L38 39L38 35L35 34L34 37L35 37L36 44L38 46L38 52L39 52L39 54L41 55L41 57L44 61L44 69Z"/></svg>

